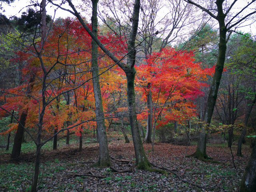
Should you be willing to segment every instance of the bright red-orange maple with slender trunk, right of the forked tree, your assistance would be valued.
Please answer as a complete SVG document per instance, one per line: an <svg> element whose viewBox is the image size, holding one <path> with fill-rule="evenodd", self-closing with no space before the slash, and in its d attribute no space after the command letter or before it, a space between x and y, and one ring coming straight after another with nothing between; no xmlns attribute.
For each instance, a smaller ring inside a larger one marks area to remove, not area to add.
<svg viewBox="0 0 256 192"><path fill-rule="evenodd" d="M182 116L195 116L192 101L203 95L201 89L207 84L202 81L208 78L207 75L212 75L214 67L203 69L192 57L191 51L177 51L167 47L161 52L153 52L146 58L146 64L140 64L137 84L140 84L139 90L145 99L148 97L146 86L150 82L154 130L157 122L159 128L168 122L182 119ZM186 118L183 120L187 121Z"/></svg>

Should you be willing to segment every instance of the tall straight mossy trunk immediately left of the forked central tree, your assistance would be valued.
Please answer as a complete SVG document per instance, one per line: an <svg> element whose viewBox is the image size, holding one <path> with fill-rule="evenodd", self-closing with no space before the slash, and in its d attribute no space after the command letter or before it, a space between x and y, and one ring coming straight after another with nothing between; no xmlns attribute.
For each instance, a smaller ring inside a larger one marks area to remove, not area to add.
<svg viewBox="0 0 256 192"><path fill-rule="evenodd" d="M97 37L97 6L98 0L92 0L92 32ZM100 148L99 160L94 166L110 166L110 158L108 153L108 139L106 135L106 125L104 120L104 112L102 106L102 97L100 91L100 80L98 77L98 46L94 40L92 40L92 83L95 99L95 114L96 114L96 125L98 130L98 140Z"/></svg>

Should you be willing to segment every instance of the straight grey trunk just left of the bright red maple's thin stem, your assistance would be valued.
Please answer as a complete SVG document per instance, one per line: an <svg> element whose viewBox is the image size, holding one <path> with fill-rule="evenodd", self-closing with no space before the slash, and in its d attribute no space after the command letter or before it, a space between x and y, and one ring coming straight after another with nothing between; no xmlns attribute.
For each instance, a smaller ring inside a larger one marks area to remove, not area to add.
<svg viewBox="0 0 256 192"><path fill-rule="evenodd" d="M150 83L149 83L150 84ZM150 85L148 85L149 87ZM152 102L151 102L151 91L149 91L147 95L147 106L148 106L148 118L147 118L147 132L146 137L144 139L145 143L151 143L151 135L152 135Z"/></svg>

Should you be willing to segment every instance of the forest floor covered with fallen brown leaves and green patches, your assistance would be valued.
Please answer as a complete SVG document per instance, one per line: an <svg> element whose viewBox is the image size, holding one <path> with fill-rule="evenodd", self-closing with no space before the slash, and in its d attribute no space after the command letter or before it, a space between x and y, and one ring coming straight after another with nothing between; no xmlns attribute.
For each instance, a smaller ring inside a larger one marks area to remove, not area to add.
<svg viewBox="0 0 256 192"><path fill-rule="evenodd" d="M232 155L226 144L207 146L208 155L222 162L221 164L206 163L195 158L185 158L182 164L186 146L157 142L152 152L151 144L144 144L144 150L150 162L168 168L176 174L168 172L164 175L136 169L132 142L124 143L124 140L117 138L118 136L108 138L112 168L90 167L99 156L98 143L91 138L84 141L81 152L78 151L77 137L70 145L65 145L64 139L60 140L57 150L51 150L50 147L43 148L39 191L235 192L238 191L251 152L250 148L243 146L244 156L234 155L236 166L234 168ZM49 142L49 146L51 144ZM196 145L188 146L187 154L193 153L195 149ZM10 151L5 152L5 149L0 149L0 192L30 190L34 152L23 150L17 162L10 159ZM232 151L236 154L235 145ZM120 159L127 162L118 161ZM130 166L129 161L132 162ZM192 184L180 180L179 177Z"/></svg>

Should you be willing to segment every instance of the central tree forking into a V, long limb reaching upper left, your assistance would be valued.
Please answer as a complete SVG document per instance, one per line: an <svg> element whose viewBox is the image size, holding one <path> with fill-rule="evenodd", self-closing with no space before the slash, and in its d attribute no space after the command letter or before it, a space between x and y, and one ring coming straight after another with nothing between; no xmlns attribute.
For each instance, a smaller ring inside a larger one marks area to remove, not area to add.
<svg viewBox="0 0 256 192"><path fill-rule="evenodd" d="M135 91L134 91L134 79L135 79L135 74L136 74L136 70L134 68L135 56L136 56L135 40L136 40L136 34L137 34L137 30L138 30L140 0L136 0L134 2L134 10L132 13L132 18L131 18L132 28L131 28L130 38L128 41L128 48L127 48L128 56L127 56L126 64L121 62L107 48L105 48L103 46L103 44L98 40L98 38L88 28L88 26L86 26L84 20L82 19L80 14L77 12L77 10L74 7L74 5L72 4L71 0L68 0L68 3L73 10L73 12L70 10L69 10L69 12L71 12L78 18L78 20L80 21L80 23L82 24L84 29L88 32L88 34L92 37L92 39L116 64L118 64L118 66L126 74L128 112L129 112L130 126L131 126L131 130L132 130L132 138L133 138L133 143L134 143L136 164L137 164L137 167L140 169L148 169L151 166L151 164L148 162L148 160L146 158L144 148L142 145L142 140L140 138L140 130L139 130L137 115L136 115Z"/></svg>

